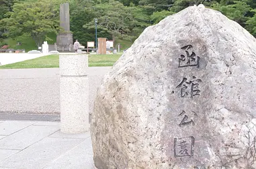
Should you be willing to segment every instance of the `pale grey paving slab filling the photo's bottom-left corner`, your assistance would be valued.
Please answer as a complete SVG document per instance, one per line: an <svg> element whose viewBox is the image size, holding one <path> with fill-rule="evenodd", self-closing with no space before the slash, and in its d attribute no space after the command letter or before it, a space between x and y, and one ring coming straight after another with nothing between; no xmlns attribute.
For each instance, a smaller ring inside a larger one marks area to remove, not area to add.
<svg viewBox="0 0 256 169"><path fill-rule="evenodd" d="M81 142L83 140L74 138L44 138L11 158L3 160L0 162L0 166L26 169L44 168ZM77 163L79 162L77 161Z"/></svg>

